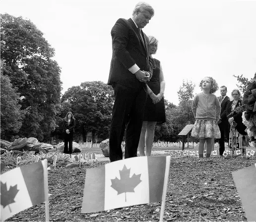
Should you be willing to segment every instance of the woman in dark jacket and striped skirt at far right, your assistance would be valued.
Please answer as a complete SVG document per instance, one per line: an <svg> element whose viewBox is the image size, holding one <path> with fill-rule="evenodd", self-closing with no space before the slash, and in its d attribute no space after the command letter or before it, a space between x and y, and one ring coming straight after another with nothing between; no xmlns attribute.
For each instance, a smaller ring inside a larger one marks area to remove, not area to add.
<svg viewBox="0 0 256 222"><path fill-rule="evenodd" d="M242 153L245 153L246 126L243 124L242 112L238 110L238 107L242 105L242 100L240 99L241 92L238 89L233 89L231 97L234 100L230 101L226 108L227 118L230 124L230 149L233 150L233 154L236 154L234 152L236 150L242 150Z"/></svg>

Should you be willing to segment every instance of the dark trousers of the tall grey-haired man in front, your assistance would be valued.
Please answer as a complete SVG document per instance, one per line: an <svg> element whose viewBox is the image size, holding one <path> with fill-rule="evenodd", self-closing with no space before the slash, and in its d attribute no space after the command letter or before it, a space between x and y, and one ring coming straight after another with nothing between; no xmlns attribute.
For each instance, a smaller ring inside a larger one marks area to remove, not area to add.
<svg viewBox="0 0 256 222"><path fill-rule="evenodd" d="M147 98L147 93L142 87L140 89L132 89L115 83L113 89L115 103L109 135L109 159L111 162L123 159L121 144L125 129L125 158L137 156Z"/></svg>

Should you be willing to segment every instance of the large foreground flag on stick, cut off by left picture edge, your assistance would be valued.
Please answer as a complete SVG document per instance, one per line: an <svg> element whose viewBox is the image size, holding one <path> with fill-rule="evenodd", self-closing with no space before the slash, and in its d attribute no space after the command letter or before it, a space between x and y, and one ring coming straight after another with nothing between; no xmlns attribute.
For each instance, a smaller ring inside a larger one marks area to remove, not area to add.
<svg viewBox="0 0 256 222"><path fill-rule="evenodd" d="M47 160L14 168L1 175L1 221L46 202L49 221Z"/></svg>

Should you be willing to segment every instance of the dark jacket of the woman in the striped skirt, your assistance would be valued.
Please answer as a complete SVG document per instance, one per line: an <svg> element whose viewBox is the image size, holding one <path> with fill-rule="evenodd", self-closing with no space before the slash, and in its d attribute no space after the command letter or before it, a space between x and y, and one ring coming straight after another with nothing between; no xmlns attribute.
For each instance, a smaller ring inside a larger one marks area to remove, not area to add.
<svg viewBox="0 0 256 222"><path fill-rule="evenodd" d="M238 131L238 133L241 133L242 135L247 135L247 133L245 132L246 126L243 124L242 113L234 112L234 114L230 114L231 113L232 104L233 104L233 100L230 101L228 103L228 105L227 105L227 109L226 109L227 119L229 119L231 117L234 117L234 121L237 124L235 129ZM242 100L239 99L235 108L237 108L238 106L241 106L241 105L242 105Z"/></svg>

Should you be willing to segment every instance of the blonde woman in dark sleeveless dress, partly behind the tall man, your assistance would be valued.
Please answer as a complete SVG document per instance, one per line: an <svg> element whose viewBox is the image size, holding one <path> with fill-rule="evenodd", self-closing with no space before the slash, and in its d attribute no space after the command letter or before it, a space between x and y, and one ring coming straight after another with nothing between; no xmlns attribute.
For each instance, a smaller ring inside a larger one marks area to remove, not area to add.
<svg viewBox="0 0 256 222"><path fill-rule="evenodd" d="M151 155L155 126L156 124L165 123L165 81L163 70L160 61L151 56L156 53L158 41L153 36L148 36L148 39L150 59L153 64L153 75L147 83L148 96L138 145L140 156L145 156L145 147L146 156Z"/></svg>

